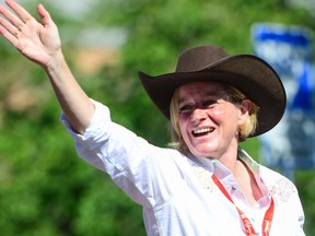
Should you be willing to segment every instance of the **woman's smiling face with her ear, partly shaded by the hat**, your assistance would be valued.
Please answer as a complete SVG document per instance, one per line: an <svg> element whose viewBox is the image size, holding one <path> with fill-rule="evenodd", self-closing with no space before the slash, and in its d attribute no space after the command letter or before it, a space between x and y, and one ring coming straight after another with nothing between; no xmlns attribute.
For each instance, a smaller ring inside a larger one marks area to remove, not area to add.
<svg viewBox="0 0 315 236"><path fill-rule="evenodd" d="M228 101L223 86L194 82L178 90L178 128L189 151L219 160L237 150L237 130L248 117L249 102Z"/></svg>

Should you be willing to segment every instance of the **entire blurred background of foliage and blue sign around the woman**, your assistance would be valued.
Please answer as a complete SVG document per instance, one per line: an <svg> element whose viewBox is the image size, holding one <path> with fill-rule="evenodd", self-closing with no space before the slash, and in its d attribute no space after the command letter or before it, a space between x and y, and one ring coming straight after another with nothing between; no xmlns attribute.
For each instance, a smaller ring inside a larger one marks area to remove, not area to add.
<svg viewBox="0 0 315 236"><path fill-rule="evenodd" d="M18 2L36 17L36 5L45 4L86 93L107 104L116 122L161 146L170 140L167 121L141 87L139 70L172 72L179 51L205 44L275 66L288 85L289 115L273 134L242 145L294 181L305 233L315 235L314 0ZM45 73L2 38L0 71L1 235L145 235L141 208L78 157Z"/></svg>

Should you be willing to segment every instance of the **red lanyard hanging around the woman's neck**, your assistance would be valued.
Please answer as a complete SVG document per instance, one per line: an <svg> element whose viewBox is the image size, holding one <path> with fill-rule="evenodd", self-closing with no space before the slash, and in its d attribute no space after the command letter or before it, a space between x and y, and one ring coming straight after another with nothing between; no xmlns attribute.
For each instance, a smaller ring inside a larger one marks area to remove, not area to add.
<svg viewBox="0 0 315 236"><path fill-rule="evenodd" d="M212 175L212 180L218 186L218 188L222 191L222 193L235 205L231 196L228 193L228 191L225 190L225 188L223 187L221 181L217 178L217 176ZM256 236L256 232L255 232L254 226L252 225L249 219L245 215L245 213L243 211L241 211L241 209L238 209L236 205L235 205L235 208L236 208L236 210L240 214L240 217L243 222L246 235L247 236ZM273 208L275 208L275 203L273 203L273 199L271 198L270 206L266 211L264 222L262 222L262 236L269 235L269 232L271 228L271 223L272 223L272 217L273 217Z"/></svg>

